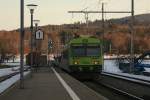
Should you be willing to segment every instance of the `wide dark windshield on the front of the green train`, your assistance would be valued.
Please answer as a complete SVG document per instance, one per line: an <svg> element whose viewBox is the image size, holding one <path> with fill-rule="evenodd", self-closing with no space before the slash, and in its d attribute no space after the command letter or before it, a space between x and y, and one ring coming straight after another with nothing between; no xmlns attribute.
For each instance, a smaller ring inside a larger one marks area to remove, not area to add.
<svg viewBox="0 0 150 100"><path fill-rule="evenodd" d="M73 56L100 56L100 47L73 47Z"/></svg>

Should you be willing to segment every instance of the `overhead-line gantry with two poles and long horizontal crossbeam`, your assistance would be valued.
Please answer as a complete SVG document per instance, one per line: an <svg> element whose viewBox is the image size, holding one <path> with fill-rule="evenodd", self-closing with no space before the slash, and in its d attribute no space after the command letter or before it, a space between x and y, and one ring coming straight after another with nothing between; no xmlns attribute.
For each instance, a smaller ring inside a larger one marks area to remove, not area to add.
<svg viewBox="0 0 150 100"><path fill-rule="evenodd" d="M104 11L104 3L102 3L102 11L68 11L68 13L77 13L77 14L90 14L90 13L102 13L102 28L103 28L103 44L104 44L104 33L105 33L105 24L104 24L104 14L131 14L132 18L131 18L131 50L130 50L130 72L131 72L131 68L134 66L134 51L133 51L133 40L134 40L134 0L131 1L131 11ZM102 47L102 52L104 53L104 46ZM104 59L104 58L103 58ZM104 61L103 61L104 62ZM103 69L104 69L104 64L103 64Z"/></svg>

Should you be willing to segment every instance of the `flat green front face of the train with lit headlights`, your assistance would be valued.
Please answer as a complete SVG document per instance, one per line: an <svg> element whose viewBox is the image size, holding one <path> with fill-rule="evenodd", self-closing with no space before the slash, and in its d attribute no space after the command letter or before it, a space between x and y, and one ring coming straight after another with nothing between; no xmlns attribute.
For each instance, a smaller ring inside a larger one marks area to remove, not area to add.
<svg viewBox="0 0 150 100"><path fill-rule="evenodd" d="M102 52L99 39L74 39L70 43L69 54L69 65L72 72L101 72Z"/></svg>

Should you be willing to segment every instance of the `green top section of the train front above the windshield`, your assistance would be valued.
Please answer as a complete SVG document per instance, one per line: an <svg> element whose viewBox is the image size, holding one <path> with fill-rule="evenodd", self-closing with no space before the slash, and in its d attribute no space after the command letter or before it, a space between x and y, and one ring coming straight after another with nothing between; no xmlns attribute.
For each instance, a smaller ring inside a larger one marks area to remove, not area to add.
<svg viewBox="0 0 150 100"><path fill-rule="evenodd" d="M80 44L80 43L94 44L94 43L101 43L101 41L95 37L78 37L74 38L69 42L69 44Z"/></svg>

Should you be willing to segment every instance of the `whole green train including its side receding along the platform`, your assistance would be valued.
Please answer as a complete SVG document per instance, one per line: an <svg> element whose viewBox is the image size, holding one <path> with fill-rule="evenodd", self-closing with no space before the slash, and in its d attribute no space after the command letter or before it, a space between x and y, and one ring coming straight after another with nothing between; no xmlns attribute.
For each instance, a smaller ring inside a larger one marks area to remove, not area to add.
<svg viewBox="0 0 150 100"><path fill-rule="evenodd" d="M70 73L100 73L102 64L102 41L95 37L77 37L67 44L59 66Z"/></svg>

